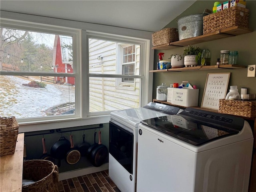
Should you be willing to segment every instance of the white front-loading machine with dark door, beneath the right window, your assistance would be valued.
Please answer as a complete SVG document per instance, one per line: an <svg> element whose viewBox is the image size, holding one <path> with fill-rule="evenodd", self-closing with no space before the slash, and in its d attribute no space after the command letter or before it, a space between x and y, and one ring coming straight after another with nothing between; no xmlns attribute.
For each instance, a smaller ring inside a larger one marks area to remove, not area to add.
<svg viewBox="0 0 256 192"><path fill-rule="evenodd" d="M109 176L122 192L136 191L138 125L141 120L178 114L180 108L150 102L110 113Z"/></svg>

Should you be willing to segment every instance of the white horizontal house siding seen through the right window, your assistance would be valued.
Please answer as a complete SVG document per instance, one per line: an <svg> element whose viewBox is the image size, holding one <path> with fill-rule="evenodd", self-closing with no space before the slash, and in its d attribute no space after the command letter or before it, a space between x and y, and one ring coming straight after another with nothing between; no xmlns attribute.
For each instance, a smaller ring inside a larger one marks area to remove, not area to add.
<svg viewBox="0 0 256 192"><path fill-rule="evenodd" d="M121 74L117 70L117 43L89 39L89 72ZM101 56L102 60L97 57ZM140 46L136 46L135 74L140 74ZM89 78L90 112L137 108L140 103L140 79L135 84L118 85L116 78ZM130 86L129 86L130 85Z"/></svg>

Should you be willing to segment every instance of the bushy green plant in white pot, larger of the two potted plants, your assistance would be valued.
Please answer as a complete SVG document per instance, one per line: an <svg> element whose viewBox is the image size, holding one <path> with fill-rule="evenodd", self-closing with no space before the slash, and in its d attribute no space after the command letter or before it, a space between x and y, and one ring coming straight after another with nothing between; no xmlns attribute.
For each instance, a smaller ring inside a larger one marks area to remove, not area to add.
<svg viewBox="0 0 256 192"><path fill-rule="evenodd" d="M188 48L184 48L184 65L186 67L193 67L198 65L198 61L201 57L202 49L189 45Z"/></svg>

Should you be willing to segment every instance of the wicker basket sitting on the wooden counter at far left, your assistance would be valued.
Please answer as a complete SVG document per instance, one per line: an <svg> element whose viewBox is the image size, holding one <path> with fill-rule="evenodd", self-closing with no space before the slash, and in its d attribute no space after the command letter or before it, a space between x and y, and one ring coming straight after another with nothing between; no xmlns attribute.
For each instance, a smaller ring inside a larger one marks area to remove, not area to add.
<svg viewBox="0 0 256 192"><path fill-rule="evenodd" d="M0 156L14 154L18 132L15 117L0 117Z"/></svg>

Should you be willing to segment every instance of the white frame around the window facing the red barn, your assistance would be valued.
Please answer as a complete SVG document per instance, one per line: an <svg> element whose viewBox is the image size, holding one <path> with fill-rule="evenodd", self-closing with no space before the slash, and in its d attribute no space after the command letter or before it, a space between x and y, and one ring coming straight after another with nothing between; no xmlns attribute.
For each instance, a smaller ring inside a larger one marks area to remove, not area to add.
<svg viewBox="0 0 256 192"><path fill-rule="evenodd" d="M45 27L42 28L41 25L38 24L28 24L28 23L21 23L15 21L2 21L0 24L1 28L10 28L14 30L25 30L30 32L39 32L39 33L48 33L48 34L57 34L63 36L72 36L73 38L73 73L52 73L52 72L23 72L23 71L1 71L1 75L7 76L51 76L51 77L74 77L75 78L75 101L76 101L76 114L70 115L58 115L58 116L41 116L41 117L31 117L31 118L19 118L18 123L28 123L28 122L50 122L55 120L72 120L76 118L81 118L81 108L80 106L80 89L77 85L79 85L79 76L77 68L80 65L80 30L77 29L64 29L64 28L56 28L51 26L50 28ZM77 63L77 64L74 64Z"/></svg>

